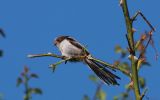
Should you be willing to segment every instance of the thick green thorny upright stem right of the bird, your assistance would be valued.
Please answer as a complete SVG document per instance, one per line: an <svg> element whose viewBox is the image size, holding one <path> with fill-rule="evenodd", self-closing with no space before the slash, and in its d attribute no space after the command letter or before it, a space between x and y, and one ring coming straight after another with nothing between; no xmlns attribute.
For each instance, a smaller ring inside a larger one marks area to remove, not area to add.
<svg viewBox="0 0 160 100"><path fill-rule="evenodd" d="M134 46L134 32L132 27L132 19L130 18L129 11L128 11L128 5L127 0L123 0L123 3L121 4L123 14L125 17L126 27L127 27L127 38L128 43L131 46L130 47L130 55L131 55L131 67L132 67L132 79L133 79L133 86L134 86L134 94L136 100L140 100L140 88L139 88L139 82L138 82L138 71L137 71L137 61L135 61L135 46Z"/></svg>

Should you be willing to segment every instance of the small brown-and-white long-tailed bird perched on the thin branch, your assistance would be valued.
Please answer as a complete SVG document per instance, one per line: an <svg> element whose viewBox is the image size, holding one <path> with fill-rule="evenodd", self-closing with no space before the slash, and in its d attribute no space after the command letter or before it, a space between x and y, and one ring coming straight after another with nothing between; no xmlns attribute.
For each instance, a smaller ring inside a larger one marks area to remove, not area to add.
<svg viewBox="0 0 160 100"><path fill-rule="evenodd" d="M108 85L119 85L117 79L120 79L120 77L113 74L110 68L107 69L103 63L92 60L91 58L93 58L93 56L76 39L70 36L58 36L54 39L53 43L60 50L62 56L71 59L70 62L83 62L88 65L104 83ZM74 59L78 57L81 57L81 59Z"/></svg>

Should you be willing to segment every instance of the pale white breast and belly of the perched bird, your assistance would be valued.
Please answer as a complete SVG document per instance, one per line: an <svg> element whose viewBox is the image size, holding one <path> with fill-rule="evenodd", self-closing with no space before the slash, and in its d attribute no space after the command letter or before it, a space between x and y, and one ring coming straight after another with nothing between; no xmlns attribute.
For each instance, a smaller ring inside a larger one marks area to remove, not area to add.
<svg viewBox="0 0 160 100"><path fill-rule="evenodd" d="M68 40L63 40L59 45L59 49L62 53L62 56L66 57L78 56L82 53L81 49L72 45Z"/></svg>

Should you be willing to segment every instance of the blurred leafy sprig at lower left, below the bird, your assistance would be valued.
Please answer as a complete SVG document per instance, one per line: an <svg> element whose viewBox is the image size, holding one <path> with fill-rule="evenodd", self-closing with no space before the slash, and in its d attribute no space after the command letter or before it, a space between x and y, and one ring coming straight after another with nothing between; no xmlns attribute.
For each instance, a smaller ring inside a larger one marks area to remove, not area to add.
<svg viewBox="0 0 160 100"><path fill-rule="evenodd" d="M24 87L25 87L24 100L31 100L32 94L42 95L42 90L40 88L29 86L29 81L32 78L37 79L38 75L35 73L30 73L28 67L24 67L23 72L17 78L17 85L16 86L19 87L20 85L24 85Z"/></svg>

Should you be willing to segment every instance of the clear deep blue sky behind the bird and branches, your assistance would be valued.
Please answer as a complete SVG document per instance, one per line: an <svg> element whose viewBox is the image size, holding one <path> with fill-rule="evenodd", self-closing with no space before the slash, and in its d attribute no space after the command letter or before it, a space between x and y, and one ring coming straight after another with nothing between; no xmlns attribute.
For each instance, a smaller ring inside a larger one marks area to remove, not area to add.
<svg viewBox="0 0 160 100"><path fill-rule="evenodd" d="M153 37L157 49L160 45L159 3L159 0L129 0L131 15L141 10L156 27ZM134 24L137 32L149 30L141 18L138 19ZM0 48L4 50L4 57L0 58L0 92L5 100L22 100L23 87L16 88L16 78L25 65L40 76L32 80L32 86L44 92L33 100L81 100L84 94L94 94L95 84L88 80L93 72L84 64L62 64L52 73L48 65L58 59L27 58L28 54L58 54L52 42L59 35L75 37L87 45L94 56L110 63L119 57L114 53L114 46L127 45L119 0L0 0L0 27L7 35L0 39ZM155 60L151 47L147 56L152 67L144 68L140 75L147 79L147 96L151 100L160 99L159 59ZM129 82L122 73L117 74L121 77L119 87L104 86L110 100L123 92L123 86Z"/></svg>

